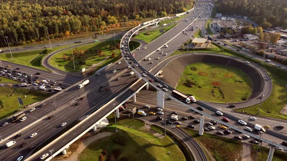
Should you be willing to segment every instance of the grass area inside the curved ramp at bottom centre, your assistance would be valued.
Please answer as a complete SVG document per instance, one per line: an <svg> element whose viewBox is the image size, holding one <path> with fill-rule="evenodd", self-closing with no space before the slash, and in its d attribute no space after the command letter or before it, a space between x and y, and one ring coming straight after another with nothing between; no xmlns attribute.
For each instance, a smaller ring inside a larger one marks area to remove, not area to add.
<svg viewBox="0 0 287 161"><path fill-rule="evenodd" d="M143 126L144 123L139 120L117 121L119 132L91 143L83 150L78 159L80 161L100 161L101 152L106 149L108 156L114 154L117 161L125 160L125 158L129 161L185 161L183 153L171 138L168 136L162 139L157 138L145 131ZM114 130L114 124L109 124L104 129L104 131ZM115 137L124 139L125 145L116 144ZM170 155L166 154L168 151L171 151ZM104 159L107 159L107 156Z"/></svg>

